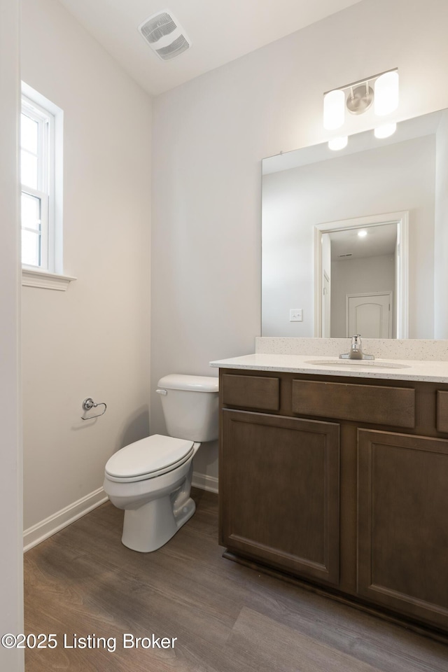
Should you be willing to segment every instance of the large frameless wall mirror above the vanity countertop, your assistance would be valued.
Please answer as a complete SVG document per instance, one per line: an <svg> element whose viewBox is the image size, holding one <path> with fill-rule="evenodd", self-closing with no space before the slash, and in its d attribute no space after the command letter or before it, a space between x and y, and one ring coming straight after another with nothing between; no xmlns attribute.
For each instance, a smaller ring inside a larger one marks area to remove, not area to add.
<svg viewBox="0 0 448 672"><path fill-rule="evenodd" d="M262 335L446 338L447 204L448 111L264 159Z"/></svg>

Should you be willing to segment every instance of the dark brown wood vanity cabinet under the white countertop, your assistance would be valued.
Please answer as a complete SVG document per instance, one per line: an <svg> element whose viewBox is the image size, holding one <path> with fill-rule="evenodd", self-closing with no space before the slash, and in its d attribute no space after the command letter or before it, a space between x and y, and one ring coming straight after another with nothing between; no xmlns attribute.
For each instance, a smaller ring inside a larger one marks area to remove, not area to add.
<svg viewBox="0 0 448 672"><path fill-rule="evenodd" d="M448 385L220 377L226 555L448 632Z"/></svg>

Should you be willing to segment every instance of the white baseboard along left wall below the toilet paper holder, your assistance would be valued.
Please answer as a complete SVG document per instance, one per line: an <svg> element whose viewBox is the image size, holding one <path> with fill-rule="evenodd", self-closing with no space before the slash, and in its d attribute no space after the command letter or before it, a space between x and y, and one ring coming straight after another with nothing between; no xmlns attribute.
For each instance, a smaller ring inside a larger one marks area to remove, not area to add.
<svg viewBox="0 0 448 672"><path fill-rule="evenodd" d="M23 533L23 551L28 551L33 546L41 543L41 541L48 539L51 535L59 532L67 525L73 523L78 518L85 516L86 513L96 509L100 504L104 504L108 500L108 496L102 488L98 488L94 492L78 499L64 509L57 511L52 516L45 518L40 523L36 523L29 527Z"/></svg>

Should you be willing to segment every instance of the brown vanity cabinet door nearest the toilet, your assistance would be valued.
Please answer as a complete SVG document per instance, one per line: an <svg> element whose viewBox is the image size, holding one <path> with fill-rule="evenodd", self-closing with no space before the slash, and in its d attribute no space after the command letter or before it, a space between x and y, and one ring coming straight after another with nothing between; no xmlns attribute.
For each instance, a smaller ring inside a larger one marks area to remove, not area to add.
<svg viewBox="0 0 448 672"><path fill-rule="evenodd" d="M221 538L235 552L339 580L339 425L223 410Z"/></svg>

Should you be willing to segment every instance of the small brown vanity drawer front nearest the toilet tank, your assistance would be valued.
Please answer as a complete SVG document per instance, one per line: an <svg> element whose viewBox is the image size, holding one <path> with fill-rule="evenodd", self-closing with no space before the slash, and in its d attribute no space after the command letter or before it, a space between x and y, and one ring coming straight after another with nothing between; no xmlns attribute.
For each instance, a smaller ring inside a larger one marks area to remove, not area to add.
<svg viewBox="0 0 448 672"><path fill-rule="evenodd" d="M223 404L278 411L280 407L279 378L234 376L223 374Z"/></svg>

